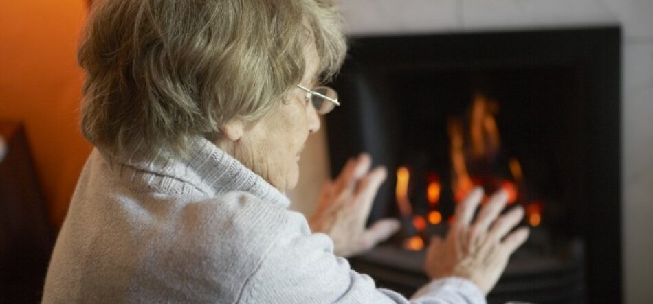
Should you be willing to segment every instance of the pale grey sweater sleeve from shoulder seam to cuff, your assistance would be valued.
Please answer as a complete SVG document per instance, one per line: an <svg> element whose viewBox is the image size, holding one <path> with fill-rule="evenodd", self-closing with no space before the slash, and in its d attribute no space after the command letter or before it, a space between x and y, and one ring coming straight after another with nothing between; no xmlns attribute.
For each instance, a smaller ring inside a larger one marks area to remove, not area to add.
<svg viewBox="0 0 653 304"><path fill-rule="evenodd" d="M476 286L460 278L432 281L406 299L376 288L371 277L333 254L333 242L311 233L305 218L285 211L269 229L271 246L247 279L239 303L485 303Z"/></svg>

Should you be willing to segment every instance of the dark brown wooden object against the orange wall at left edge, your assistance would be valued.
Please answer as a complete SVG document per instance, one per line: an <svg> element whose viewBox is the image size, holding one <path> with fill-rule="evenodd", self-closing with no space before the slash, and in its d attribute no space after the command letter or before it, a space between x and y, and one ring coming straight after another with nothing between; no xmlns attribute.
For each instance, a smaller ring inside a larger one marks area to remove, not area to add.
<svg viewBox="0 0 653 304"><path fill-rule="evenodd" d="M0 122L8 153L0 161L0 301L38 303L54 230L20 124Z"/></svg>

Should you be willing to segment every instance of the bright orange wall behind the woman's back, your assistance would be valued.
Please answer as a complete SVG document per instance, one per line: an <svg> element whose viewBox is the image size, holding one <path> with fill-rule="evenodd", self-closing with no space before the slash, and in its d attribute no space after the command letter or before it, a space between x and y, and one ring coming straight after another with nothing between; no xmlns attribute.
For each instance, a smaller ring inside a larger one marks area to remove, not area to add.
<svg viewBox="0 0 653 304"><path fill-rule="evenodd" d="M2 0L0 120L21 121L55 226L65 216L90 145L78 130L76 66L82 0Z"/></svg>

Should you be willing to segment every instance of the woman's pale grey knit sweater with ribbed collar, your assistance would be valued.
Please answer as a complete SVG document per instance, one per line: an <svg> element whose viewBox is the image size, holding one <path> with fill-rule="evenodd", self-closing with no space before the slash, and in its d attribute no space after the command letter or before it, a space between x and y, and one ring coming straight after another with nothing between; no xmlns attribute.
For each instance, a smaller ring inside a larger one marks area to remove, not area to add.
<svg viewBox="0 0 653 304"><path fill-rule="evenodd" d="M190 150L192 161L91 153L43 303L408 303L333 255L331 239L263 178L205 139ZM449 278L410 302L485 299Z"/></svg>

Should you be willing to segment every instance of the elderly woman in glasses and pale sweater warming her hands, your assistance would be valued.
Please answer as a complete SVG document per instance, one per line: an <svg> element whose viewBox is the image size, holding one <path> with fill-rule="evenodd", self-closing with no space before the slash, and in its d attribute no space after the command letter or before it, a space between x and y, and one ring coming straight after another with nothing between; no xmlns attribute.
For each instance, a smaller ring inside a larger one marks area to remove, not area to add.
<svg viewBox="0 0 653 304"><path fill-rule="evenodd" d="M342 256L383 182L367 155L325 187L310 224L287 209L346 48L328 0L96 1L79 60L95 145L49 265L44 303L406 303ZM484 303L528 231L477 189L428 248L414 303Z"/></svg>

